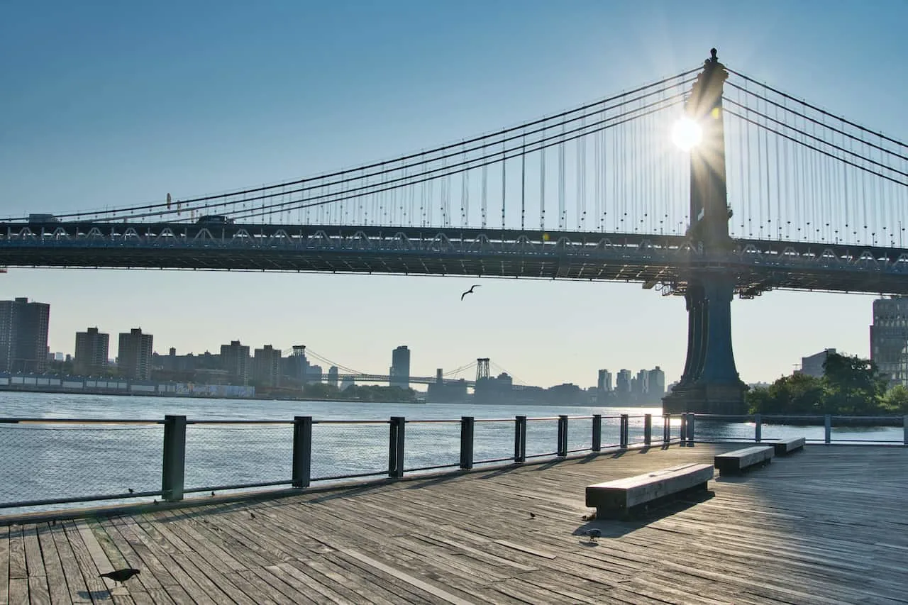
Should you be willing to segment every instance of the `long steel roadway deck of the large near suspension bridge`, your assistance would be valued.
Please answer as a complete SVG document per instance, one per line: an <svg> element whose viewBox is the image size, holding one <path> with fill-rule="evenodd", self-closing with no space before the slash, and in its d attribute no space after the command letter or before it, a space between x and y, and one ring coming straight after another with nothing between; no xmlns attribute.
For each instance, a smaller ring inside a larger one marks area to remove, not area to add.
<svg viewBox="0 0 908 605"><path fill-rule="evenodd" d="M680 235L197 223L0 223L0 265L402 273L642 283L684 293L692 271L773 289L908 294L908 249L735 240L705 253Z"/></svg>

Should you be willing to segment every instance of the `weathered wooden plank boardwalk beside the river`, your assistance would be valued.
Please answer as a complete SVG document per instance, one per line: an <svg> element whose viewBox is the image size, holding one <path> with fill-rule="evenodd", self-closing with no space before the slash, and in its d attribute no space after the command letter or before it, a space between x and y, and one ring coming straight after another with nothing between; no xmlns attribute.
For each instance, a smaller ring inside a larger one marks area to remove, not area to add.
<svg viewBox="0 0 908 605"><path fill-rule="evenodd" d="M581 520L589 483L729 449L0 527L0 603L908 603L906 448L808 445L712 498Z"/></svg>

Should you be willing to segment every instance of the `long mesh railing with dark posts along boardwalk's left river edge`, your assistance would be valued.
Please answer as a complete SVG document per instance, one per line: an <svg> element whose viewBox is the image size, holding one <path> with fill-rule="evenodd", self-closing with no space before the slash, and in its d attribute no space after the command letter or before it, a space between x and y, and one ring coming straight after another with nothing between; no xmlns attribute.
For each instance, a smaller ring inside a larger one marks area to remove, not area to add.
<svg viewBox="0 0 908 605"><path fill-rule="evenodd" d="M677 442L672 427L683 426L682 419L661 418L662 439L655 441ZM399 416L387 421L0 418L0 454L6 461L0 467L0 510L306 488L653 442L652 414L411 421Z"/></svg>

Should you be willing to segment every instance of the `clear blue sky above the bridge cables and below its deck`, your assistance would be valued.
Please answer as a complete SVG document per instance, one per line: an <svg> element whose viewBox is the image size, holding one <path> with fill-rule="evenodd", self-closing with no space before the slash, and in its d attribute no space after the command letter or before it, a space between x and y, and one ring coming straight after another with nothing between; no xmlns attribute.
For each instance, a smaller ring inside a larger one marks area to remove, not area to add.
<svg viewBox="0 0 908 605"><path fill-rule="evenodd" d="M0 213L60 213L238 189L482 134L676 74L729 67L908 140L908 4L7 1ZM470 283L477 295L461 303ZM489 357L518 381L677 380L685 303L633 283L10 269L0 297L74 333L142 327L165 353L305 344L387 372ZM869 355L873 296L771 292L732 305L745 382L834 347ZM112 342L115 337L112 337ZM115 352L111 352L114 356Z"/></svg>

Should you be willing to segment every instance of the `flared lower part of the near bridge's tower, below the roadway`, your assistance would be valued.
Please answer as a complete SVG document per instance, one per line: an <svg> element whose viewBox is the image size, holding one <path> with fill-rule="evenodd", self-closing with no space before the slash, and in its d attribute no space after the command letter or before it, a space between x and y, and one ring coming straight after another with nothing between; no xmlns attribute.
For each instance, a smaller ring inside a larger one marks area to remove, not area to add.
<svg viewBox="0 0 908 605"><path fill-rule="evenodd" d="M738 377L732 350L734 277L706 274L689 283L684 375L662 399L665 413L745 414L748 387Z"/></svg>

